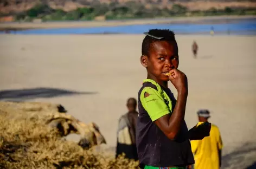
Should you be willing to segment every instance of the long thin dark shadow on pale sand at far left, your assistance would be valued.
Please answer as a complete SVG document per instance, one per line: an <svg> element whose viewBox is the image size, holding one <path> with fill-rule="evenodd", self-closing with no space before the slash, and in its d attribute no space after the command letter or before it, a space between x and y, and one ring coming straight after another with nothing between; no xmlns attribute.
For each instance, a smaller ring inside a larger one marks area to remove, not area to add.
<svg viewBox="0 0 256 169"><path fill-rule="evenodd" d="M28 100L36 98L54 98L63 95L97 94L97 92L76 92L57 88L30 88L16 90L0 90L0 100Z"/></svg>

